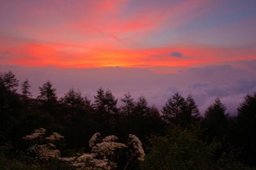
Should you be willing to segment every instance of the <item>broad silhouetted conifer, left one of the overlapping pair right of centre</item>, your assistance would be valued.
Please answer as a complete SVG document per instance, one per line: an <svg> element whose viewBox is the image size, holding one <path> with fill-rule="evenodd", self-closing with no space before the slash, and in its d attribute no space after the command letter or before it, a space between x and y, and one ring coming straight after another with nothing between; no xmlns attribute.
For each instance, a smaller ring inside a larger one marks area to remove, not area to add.
<svg viewBox="0 0 256 170"><path fill-rule="evenodd" d="M163 107L163 120L168 124L186 127L191 123L191 112L184 97L175 93Z"/></svg>

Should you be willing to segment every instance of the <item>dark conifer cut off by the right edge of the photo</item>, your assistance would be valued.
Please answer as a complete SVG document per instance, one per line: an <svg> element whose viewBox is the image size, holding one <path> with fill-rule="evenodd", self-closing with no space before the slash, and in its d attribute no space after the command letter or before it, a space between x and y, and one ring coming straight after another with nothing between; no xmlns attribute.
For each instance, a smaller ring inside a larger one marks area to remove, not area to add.
<svg viewBox="0 0 256 170"><path fill-rule="evenodd" d="M243 160L249 164L256 164L256 93L244 97L238 107L238 126L240 147L243 147Z"/></svg>

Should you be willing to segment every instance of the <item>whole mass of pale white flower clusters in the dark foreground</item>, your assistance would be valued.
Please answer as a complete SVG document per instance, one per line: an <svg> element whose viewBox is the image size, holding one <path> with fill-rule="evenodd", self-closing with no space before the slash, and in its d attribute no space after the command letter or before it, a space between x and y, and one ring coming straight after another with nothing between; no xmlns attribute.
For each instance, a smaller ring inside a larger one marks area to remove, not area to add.
<svg viewBox="0 0 256 170"><path fill-rule="evenodd" d="M74 169L103 169L110 170L115 169L117 164L115 159L118 158L120 151L130 151L131 158L136 157L138 160L144 160L145 153L142 148L140 139L136 135L129 135L127 144L117 143L118 137L115 135L108 135L102 139L99 132L93 134L89 141L92 153L77 153L73 157L60 157L60 150L56 149L56 146L50 141L56 141L64 138L56 132L52 133L49 137L42 138L46 130L39 128L34 130L35 133L26 135L23 137L25 140L32 140L40 137L40 144L30 146L29 153L36 158L36 160L50 160L51 158L57 158L62 162L67 162ZM47 141L47 144L43 144ZM129 148L129 150L123 150ZM122 150L121 150L122 149ZM129 164L130 160L127 162ZM126 166L125 166L126 167Z"/></svg>

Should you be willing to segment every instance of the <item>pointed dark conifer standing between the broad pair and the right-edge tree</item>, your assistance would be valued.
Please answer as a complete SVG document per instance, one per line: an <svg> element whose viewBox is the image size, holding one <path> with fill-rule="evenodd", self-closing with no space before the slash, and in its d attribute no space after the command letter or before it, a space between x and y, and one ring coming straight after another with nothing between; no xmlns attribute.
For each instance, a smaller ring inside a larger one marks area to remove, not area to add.
<svg viewBox="0 0 256 170"><path fill-rule="evenodd" d="M207 129L207 134L211 137L223 137L227 131L226 107L221 103L220 98L216 98L205 111L205 118L202 122L203 127Z"/></svg>

